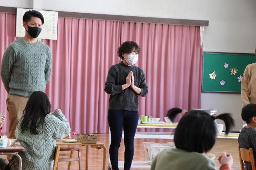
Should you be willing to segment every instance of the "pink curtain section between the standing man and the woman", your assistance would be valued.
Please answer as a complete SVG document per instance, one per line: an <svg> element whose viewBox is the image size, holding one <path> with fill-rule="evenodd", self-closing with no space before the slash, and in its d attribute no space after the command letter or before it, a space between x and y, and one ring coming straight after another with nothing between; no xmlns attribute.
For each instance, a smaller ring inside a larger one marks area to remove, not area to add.
<svg viewBox="0 0 256 170"><path fill-rule="evenodd" d="M58 40L44 40L52 49L53 70L47 94L74 132L108 132L109 96L104 92L108 69L118 63L120 22L58 19Z"/></svg>

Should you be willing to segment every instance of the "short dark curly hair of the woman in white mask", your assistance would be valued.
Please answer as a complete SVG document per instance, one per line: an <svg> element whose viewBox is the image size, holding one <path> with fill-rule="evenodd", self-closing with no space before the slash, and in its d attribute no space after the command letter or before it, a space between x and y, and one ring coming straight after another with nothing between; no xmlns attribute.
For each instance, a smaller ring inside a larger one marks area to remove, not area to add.
<svg viewBox="0 0 256 170"><path fill-rule="evenodd" d="M140 47L136 42L134 42L134 41L123 42L117 50L118 57L120 57L123 60L124 58L123 58L122 54L123 53L131 53L133 51L133 48L135 48L137 53L140 53Z"/></svg>

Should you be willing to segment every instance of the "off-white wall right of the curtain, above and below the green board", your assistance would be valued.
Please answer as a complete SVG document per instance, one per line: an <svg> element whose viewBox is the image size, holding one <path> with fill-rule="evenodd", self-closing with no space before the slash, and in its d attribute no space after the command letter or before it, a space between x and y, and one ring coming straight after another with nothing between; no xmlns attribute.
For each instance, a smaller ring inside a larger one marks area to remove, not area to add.
<svg viewBox="0 0 256 170"><path fill-rule="evenodd" d="M256 47L256 1L206 1L203 50L208 52L254 53ZM241 129L241 95L202 93L202 108L216 108L218 113L231 112L236 130Z"/></svg>

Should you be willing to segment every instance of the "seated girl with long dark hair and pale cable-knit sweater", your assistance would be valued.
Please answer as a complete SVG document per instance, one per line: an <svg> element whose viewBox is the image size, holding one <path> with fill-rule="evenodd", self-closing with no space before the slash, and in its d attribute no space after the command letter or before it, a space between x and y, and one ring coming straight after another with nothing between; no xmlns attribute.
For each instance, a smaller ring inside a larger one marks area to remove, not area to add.
<svg viewBox="0 0 256 170"><path fill-rule="evenodd" d="M42 91L34 91L20 118L15 136L27 150L20 153L23 169L50 170L56 147L56 139L70 133L70 125L61 110L50 114L51 104ZM11 169L17 169L17 159L10 160Z"/></svg>

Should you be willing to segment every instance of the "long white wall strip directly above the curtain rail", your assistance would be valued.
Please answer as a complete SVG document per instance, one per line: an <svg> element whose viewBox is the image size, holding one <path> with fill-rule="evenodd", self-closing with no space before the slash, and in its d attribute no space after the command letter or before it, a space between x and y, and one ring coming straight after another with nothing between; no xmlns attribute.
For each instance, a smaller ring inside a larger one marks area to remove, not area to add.
<svg viewBox="0 0 256 170"><path fill-rule="evenodd" d="M51 5L52 2L58 6ZM71 12L166 18L202 19L203 16L203 0L77 0L76 3L73 1L62 2L61 0L44 0L43 8Z"/></svg>

